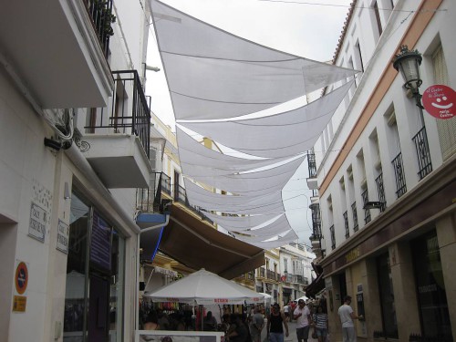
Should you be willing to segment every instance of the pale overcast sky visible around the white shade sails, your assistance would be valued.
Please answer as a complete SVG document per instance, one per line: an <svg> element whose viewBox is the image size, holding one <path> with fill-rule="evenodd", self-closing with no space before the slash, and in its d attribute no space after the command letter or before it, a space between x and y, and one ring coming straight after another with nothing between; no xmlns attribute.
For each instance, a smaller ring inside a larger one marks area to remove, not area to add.
<svg viewBox="0 0 456 342"><path fill-rule="evenodd" d="M326 62L332 60L352 0L161 0L182 12L255 43L297 56ZM147 71L146 95L151 110L165 124L175 126L171 99L161 65L157 40L150 25L147 64L161 71ZM309 245L312 219L308 205L307 161L283 191L288 221Z"/></svg>

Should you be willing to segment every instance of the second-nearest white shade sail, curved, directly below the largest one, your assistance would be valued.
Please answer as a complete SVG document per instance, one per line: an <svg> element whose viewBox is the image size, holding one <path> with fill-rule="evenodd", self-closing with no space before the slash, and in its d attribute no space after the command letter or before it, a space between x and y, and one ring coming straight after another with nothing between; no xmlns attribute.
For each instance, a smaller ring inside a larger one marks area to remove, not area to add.
<svg viewBox="0 0 456 342"><path fill-rule="evenodd" d="M348 82L306 106L268 117L181 122L181 125L233 150L254 156L291 156L315 145L352 84Z"/></svg>

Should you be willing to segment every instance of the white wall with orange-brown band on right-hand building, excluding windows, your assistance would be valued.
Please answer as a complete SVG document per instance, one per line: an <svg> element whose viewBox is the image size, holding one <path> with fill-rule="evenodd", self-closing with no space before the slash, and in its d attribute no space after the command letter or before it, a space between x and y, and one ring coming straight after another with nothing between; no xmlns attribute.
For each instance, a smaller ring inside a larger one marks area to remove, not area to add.
<svg viewBox="0 0 456 342"><path fill-rule="evenodd" d="M363 290L366 321L357 323L357 331L358 337L363 337L363 340L374 340L374 335L388 330L385 308L382 308L386 301L392 302L391 315L397 320L401 341L409 340L410 334L432 336L435 334L433 328L443 328L436 326L440 324L437 320L431 320L431 323L420 321L420 313L425 309L417 298L423 300L426 291L437 293L440 287L420 285L420 265L413 247L417 239L436 232L436 251L440 254L444 280L440 285L444 286L446 300L443 302L448 307L447 316L450 317L449 326L454 337L454 276L446 265L456 249L453 238L456 208L451 200L454 197L451 192L456 175L452 171L455 157L454 154L444 157L439 137L441 122L424 111L422 118L432 171L420 180L417 150L412 141L422 127L420 110L414 99L406 97L403 80L391 63L400 45L417 48L423 54L420 67L422 93L436 83L432 54L441 44L448 67L448 83L454 85L456 68L450 56L456 48L451 39L451 32L456 26L449 16L454 4L450 1L396 1L395 11L380 12L383 32L377 37L376 17L372 16L375 13L372 9L374 3L358 1L348 16L340 46L337 47L336 64L352 67L348 63L351 59L353 67L359 69L359 43L364 72L357 77L357 88L351 89L347 99L337 109L331 127L326 128L326 133L315 147L322 233L326 245L326 257L320 264L324 267L326 285L331 285L329 288L326 286L326 293L331 293L328 300L330 326L337 326L331 334L340 337L337 307L344 295L353 297L352 306L358 311L356 298L360 288ZM380 8L389 4L388 1L378 1ZM435 8L437 10L433 11ZM391 115L393 112L395 119ZM399 152L407 184L407 191L400 196L392 164ZM386 209L384 212L379 209L365 212L361 193L368 190L368 201L379 200L376 179L380 172ZM355 201L358 231L354 230L350 208ZM441 205L430 205L436 202ZM348 236L343 219L345 211L348 212ZM370 215L370 219L366 216L366 221L365 213ZM331 239L331 226L334 226L335 241ZM385 290L379 285L380 255L387 255L389 262L391 294L382 292ZM392 295L393 299L385 299L387 295Z"/></svg>

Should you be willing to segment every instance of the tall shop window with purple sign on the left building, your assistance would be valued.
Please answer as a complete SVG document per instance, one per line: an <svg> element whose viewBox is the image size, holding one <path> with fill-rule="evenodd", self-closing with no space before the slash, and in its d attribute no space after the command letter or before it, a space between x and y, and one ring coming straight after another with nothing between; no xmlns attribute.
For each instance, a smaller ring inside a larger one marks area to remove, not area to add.
<svg viewBox="0 0 456 342"><path fill-rule="evenodd" d="M125 239L77 193L70 215L64 341L121 341Z"/></svg>

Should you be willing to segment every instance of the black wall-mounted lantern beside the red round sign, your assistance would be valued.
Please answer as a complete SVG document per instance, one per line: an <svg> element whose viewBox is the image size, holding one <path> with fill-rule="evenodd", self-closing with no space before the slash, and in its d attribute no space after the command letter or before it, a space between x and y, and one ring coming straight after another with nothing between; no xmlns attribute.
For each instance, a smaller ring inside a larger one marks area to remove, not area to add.
<svg viewBox="0 0 456 342"><path fill-rule="evenodd" d="M423 57L418 50L410 51L409 47L403 45L400 52L393 58L393 67L400 72L404 78L404 88L409 90L409 98L415 98L417 106L424 109L421 105L420 86L420 65Z"/></svg>

